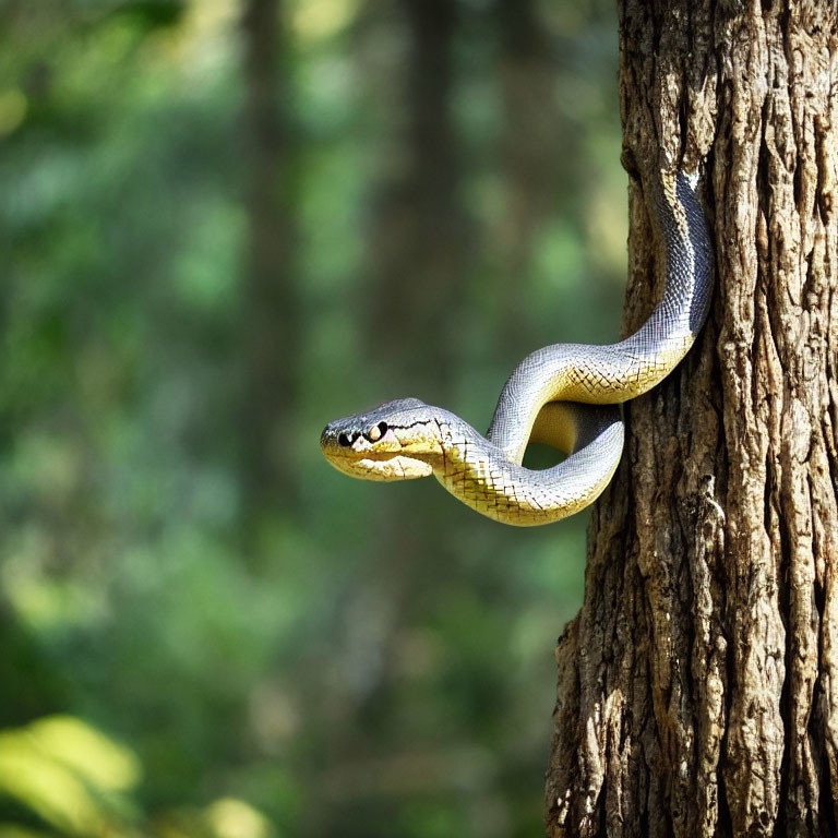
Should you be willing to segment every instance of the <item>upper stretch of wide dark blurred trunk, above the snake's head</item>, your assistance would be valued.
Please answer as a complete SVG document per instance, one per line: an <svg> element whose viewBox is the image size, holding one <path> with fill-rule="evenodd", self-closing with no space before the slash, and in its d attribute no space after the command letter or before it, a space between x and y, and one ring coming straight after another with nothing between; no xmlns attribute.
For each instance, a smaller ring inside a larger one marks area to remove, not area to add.
<svg viewBox="0 0 838 838"><path fill-rule="evenodd" d="M466 285L466 219L452 117L454 0L399 0L404 122L384 172L370 242L370 354L392 383L444 402ZM400 58L400 57L399 57ZM395 70L395 68L394 68ZM417 351L421 347L421 354ZM424 357L421 357L421 356Z"/></svg>

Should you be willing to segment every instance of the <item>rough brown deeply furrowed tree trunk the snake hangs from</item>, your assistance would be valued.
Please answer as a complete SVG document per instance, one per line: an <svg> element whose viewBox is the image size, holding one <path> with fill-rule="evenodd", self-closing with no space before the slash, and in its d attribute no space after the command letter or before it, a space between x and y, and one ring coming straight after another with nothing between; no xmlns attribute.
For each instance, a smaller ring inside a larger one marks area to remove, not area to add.
<svg viewBox="0 0 838 838"><path fill-rule="evenodd" d="M705 173L716 289L594 513L549 836L836 835L837 37L827 0L620 2L625 331L659 160Z"/></svg>

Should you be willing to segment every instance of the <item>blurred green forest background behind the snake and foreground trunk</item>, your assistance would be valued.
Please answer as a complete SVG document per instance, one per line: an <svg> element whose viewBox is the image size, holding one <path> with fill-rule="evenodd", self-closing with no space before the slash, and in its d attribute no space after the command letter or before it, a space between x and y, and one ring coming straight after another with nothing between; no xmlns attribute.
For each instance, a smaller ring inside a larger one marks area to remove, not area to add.
<svg viewBox="0 0 838 838"><path fill-rule="evenodd" d="M613 1L0 10L0 837L538 835L586 517L318 436L616 337Z"/></svg>

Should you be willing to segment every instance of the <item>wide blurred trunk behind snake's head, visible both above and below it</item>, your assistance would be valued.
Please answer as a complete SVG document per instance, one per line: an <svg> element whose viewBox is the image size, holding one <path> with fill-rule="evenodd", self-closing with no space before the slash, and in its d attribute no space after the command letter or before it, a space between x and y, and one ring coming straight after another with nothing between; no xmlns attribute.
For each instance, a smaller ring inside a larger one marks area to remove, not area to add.
<svg viewBox="0 0 838 838"><path fill-rule="evenodd" d="M373 8L366 25L400 49L392 64L371 69L368 85L386 105L391 147L376 161L376 194L369 224L364 363L387 397L416 395L434 404L450 399L455 368L457 307L466 278L466 219L459 202L459 141L453 120L454 0L398 0ZM396 115L395 118L393 115ZM405 519L399 499L381 493L378 538L369 576L346 601L347 651L356 661L350 697L362 741L335 742L356 757L374 752L399 680L397 645L414 619L419 577L429 561L421 515Z"/></svg>

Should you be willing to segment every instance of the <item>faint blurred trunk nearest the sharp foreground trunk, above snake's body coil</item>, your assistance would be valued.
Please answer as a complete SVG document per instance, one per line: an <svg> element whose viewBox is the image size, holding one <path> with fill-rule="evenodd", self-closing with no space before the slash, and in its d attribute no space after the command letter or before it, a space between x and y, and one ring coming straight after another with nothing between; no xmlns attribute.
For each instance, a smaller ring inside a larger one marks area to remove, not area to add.
<svg viewBox="0 0 838 838"><path fill-rule="evenodd" d="M563 167L555 107L555 61L536 0L495 0L503 109L501 169L504 214L499 227L503 280L498 311L499 352L516 357L531 350L527 286L536 237L555 211ZM504 346L505 344L505 350Z"/></svg>

